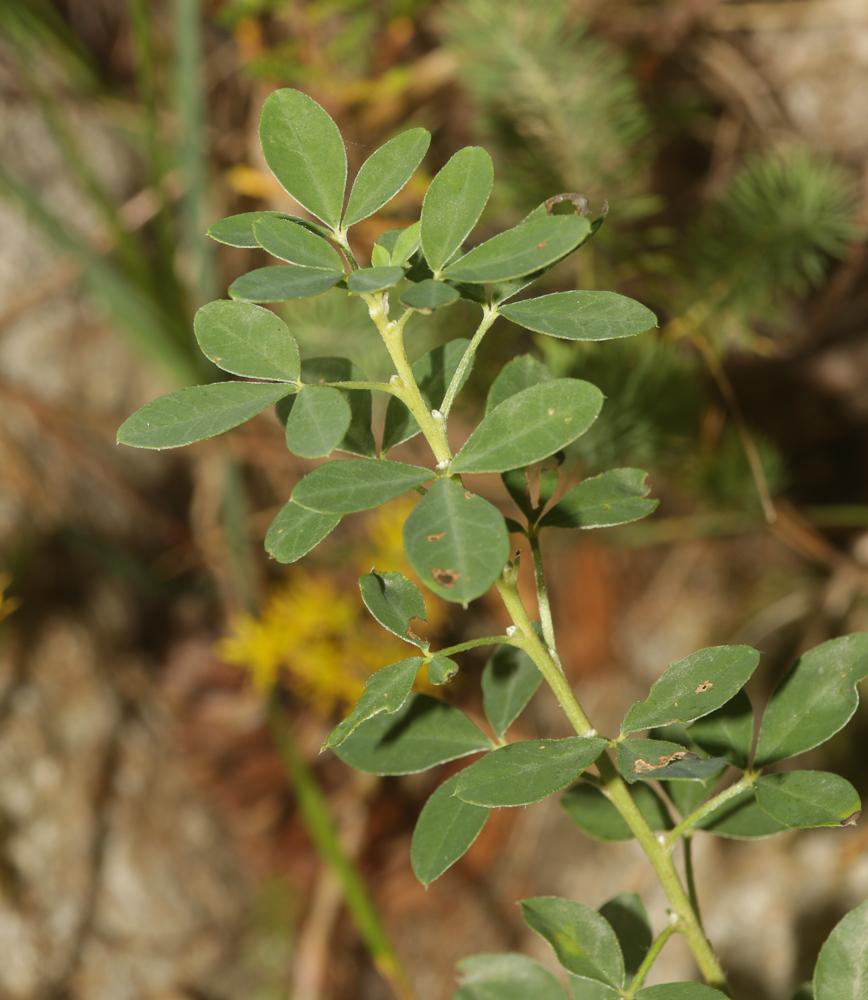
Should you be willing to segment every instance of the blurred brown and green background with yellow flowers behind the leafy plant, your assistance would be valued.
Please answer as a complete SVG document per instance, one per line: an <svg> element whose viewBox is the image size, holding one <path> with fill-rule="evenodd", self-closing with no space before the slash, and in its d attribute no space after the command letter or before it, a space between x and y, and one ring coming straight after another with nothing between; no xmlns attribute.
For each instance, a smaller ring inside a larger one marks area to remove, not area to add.
<svg viewBox="0 0 868 1000"><path fill-rule="evenodd" d="M866 77L863 0L0 0L0 997L439 1000L463 955L549 960L522 895L637 891L659 926L634 846L587 840L556 800L493 815L425 892L409 838L443 775L318 754L403 655L356 577L406 571L407 502L281 567L262 537L304 465L273 417L180 452L114 434L214 377L192 314L262 261L204 232L289 207L258 147L271 90L320 101L351 170L395 131L434 133L429 173L358 227L363 251L484 144L480 235L558 192L608 201L551 289L660 317L584 347L502 321L462 397L469 414L534 350L608 397L564 474L652 473L652 518L549 546L569 676L603 729L671 660L748 642L761 703L801 649L868 627ZM308 355L385 370L357 300L282 313ZM444 310L411 348L472 320ZM486 600L453 611L429 601L443 643L500 621ZM448 693L471 715L473 656ZM541 693L520 728L564 721ZM866 734L862 710L811 765L865 793ZM809 976L868 894L865 830L697 838L737 996L788 1000ZM692 974L677 942L658 968Z"/></svg>

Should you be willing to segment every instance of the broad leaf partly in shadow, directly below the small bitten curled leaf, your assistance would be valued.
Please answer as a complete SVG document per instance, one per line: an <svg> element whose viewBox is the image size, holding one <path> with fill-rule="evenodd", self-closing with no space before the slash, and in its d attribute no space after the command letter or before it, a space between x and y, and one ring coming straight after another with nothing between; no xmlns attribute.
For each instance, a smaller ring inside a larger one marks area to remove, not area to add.
<svg viewBox="0 0 868 1000"><path fill-rule="evenodd" d="M485 733L457 708L412 694L394 715L378 715L359 726L336 753L369 774L415 774L490 746Z"/></svg>

